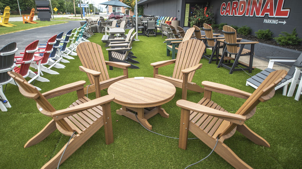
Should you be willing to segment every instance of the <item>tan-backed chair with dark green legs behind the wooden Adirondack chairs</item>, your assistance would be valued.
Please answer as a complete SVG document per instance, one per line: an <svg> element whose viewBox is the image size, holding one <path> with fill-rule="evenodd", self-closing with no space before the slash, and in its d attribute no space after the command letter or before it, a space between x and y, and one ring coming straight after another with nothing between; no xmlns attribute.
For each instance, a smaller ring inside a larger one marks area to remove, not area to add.
<svg viewBox="0 0 302 169"><path fill-rule="evenodd" d="M177 53L178 48L176 45L183 41L187 41L191 38L191 36L194 33L195 28L190 28L187 30L184 38L178 38L178 39L165 39L167 41L167 56L170 56L170 51L172 51L172 59L175 59L175 53ZM172 45L170 45L172 43Z"/></svg>

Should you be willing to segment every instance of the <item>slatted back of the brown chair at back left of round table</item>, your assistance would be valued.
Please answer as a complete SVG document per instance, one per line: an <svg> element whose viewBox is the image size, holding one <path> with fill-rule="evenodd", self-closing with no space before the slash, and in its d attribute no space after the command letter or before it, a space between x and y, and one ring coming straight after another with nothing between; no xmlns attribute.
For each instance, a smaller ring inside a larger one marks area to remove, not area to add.
<svg viewBox="0 0 302 169"><path fill-rule="evenodd" d="M77 54L81 60L82 66L87 69L101 72L100 81L108 80L108 70L106 67L104 55L100 45L93 42L82 42L78 45ZM95 79L91 74L88 74L90 84L96 84Z"/></svg>

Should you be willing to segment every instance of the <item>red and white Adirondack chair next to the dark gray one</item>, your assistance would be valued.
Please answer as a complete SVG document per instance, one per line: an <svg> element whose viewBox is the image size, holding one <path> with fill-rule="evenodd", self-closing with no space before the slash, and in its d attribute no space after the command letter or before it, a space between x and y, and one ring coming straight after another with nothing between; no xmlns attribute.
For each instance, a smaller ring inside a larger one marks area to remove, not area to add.
<svg viewBox="0 0 302 169"><path fill-rule="evenodd" d="M27 47L25 48L25 51L21 52L23 54L23 56L15 56L15 59L17 61L16 64L21 64L21 66L20 67L16 66L14 68L14 72L19 73L24 78L30 77L31 80L29 80L28 83L32 82L34 79L36 79L38 81L49 81L48 79L40 76L40 65L41 65L42 58L34 57L34 52L36 52L38 50L38 48L37 48L38 43L39 43L38 40L31 42L29 45L27 45ZM32 62L38 63L38 72L37 73L35 73L29 69ZM15 84L15 82L11 81L11 84ZM36 87L36 88L38 90L41 90L38 87Z"/></svg>

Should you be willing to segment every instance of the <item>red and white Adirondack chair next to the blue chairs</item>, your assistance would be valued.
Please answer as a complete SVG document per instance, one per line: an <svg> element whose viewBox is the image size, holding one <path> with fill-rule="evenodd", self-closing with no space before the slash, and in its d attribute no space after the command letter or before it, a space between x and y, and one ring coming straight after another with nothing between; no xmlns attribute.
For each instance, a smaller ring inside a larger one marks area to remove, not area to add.
<svg viewBox="0 0 302 169"><path fill-rule="evenodd" d="M39 50L43 50L43 51L35 52L35 54L43 54L42 56L36 56L36 58L42 58L40 71L47 72L49 74L58 75L59 74L58 72L50 69L50 68L53 67L53 65L51 65L49 67L44 66L44 65L47 65L49 63L48 58L49 58L50 53L53 51L53 45L56 43L56 36L57 35L54 35L53 37L51 37L47 41L47 44L46 44L45 48L39 48ZM39 68L39 63L38 62L32 62L31 67L33 67L35 69L38 69ZM42 72L40 72L40 74L43 75Z"/></svg>

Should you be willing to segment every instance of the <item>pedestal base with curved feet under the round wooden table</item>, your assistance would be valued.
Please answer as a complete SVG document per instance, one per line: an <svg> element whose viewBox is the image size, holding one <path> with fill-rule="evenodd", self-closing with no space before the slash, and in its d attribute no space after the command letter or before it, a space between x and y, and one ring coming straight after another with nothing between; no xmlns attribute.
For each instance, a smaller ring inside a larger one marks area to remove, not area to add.
<svg viewBox="0 0 302 169"><path fill-rule="evenodd" d="M137 112L137 118L135 117L135 114L132 111ZM164 118L169 118L169 114L165 111L165 109L162 108L162 106L156 106L150 111L144 108L122 106L122 108L117 110L116 113L118 115L124 115L128 118L131 118L136 122L138 122L138 119L140 123L149 130L152 130L152 125L150 125L147 120L156 115L157 113L159 113Z"/></svg>

